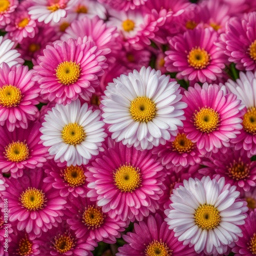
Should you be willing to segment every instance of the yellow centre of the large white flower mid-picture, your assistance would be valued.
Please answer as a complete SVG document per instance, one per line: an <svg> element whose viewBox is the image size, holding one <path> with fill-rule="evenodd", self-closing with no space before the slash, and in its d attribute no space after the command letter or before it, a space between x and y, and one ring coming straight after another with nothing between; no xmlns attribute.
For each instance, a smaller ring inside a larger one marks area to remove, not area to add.
<svg viewBox="0 0 256 256"><path fill-rule="evenodd" d="M130 113L135 121L148 122L156 115L156 104L147 97L138 97L131 102Z"/></svg>

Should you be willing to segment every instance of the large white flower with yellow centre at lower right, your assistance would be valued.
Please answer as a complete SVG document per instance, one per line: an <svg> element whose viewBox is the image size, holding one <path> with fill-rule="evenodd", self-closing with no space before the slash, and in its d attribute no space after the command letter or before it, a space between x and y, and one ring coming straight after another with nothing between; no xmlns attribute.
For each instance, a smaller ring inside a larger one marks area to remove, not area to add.
<svg viewBox="0 0 256 256"><path fill-rule="evenodd" d="M196 252L223 254L242 237L239 226L244 225L248 208L239 195L236 186L225 184L224 177L189 178L173 189L165 221L175 237L184 245L194 245Z"/></svg>

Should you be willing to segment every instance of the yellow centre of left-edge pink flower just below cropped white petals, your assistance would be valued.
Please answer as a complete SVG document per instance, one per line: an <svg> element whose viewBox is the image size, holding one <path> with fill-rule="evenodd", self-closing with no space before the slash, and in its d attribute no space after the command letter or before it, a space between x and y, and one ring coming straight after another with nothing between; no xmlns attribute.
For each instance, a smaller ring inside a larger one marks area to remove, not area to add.
<svg viewBox="0 0 256 256"><path fill-rule="evenodd" d="M19 88L11 86L11 84L0 88L0 104L11 108L11 106L17 106L22 100L22 92Z"/></svg>

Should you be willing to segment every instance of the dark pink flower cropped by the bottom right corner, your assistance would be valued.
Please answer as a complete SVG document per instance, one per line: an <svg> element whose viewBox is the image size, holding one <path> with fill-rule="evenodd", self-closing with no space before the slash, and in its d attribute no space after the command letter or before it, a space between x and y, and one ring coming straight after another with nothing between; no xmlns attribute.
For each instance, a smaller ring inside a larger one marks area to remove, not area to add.
<svg viewBox="0 0 256 256"><path fill-rule="evenodd" d="M251 256L256 254L256 211L251 211L242 228L243 236L234 245L235 256Z"/></svg>

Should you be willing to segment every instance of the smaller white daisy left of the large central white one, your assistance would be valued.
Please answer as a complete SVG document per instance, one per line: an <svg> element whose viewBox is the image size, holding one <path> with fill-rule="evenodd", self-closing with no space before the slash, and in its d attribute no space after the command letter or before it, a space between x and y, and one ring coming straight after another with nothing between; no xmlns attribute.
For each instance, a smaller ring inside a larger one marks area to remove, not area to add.
<svg viewBox="0 0 256 256"><path fill-rule="evenodd" d="M81 106L79 100L66 106L56 104L45 115L40 132L44 146L50 146L49 154L54 160L67 165L87 164L92 156L102 151L102 141L106 137L104 122L100 120L100 111Z"/></svg>

